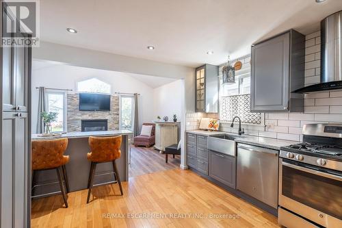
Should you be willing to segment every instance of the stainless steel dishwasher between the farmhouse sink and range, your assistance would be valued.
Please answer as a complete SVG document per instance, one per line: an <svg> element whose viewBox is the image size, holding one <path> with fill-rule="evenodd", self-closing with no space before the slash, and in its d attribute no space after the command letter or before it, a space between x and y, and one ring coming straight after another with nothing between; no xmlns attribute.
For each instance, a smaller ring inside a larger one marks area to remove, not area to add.
<svg viewBox="0 0 342 228"><path fill-rule="evenodd" d="M278 207L278 151L237 144L237 189Z"/></svg>

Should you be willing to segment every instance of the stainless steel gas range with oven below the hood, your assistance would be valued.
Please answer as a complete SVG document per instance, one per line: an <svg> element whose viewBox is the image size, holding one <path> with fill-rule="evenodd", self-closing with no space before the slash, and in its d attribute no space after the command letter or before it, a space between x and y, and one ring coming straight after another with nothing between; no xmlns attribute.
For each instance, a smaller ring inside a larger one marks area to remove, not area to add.
<svg viewBox="0 0 342 228"><path fill-rule="evenodd" d="M278 223L342 227L342 125L308 124L303 142L282 147Z"/></svg>

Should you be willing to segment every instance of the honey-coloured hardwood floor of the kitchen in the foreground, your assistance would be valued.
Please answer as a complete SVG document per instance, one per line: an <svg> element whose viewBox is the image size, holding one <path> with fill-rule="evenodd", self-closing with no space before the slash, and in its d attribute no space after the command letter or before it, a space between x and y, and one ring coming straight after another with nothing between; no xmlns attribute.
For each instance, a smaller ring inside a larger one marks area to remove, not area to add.
<svg viewBox="0 0 342 228"><path fill-rule="evenodd" d="M278 227L276 217L190 170L131 177L122 187L123 196L117 184L95 187L88 204L87 190L70 192L68 208L61 195L34 200L31 227ZM189 218L180 218L182 214ZM238 217L208 218L210 214Z"/></svg>

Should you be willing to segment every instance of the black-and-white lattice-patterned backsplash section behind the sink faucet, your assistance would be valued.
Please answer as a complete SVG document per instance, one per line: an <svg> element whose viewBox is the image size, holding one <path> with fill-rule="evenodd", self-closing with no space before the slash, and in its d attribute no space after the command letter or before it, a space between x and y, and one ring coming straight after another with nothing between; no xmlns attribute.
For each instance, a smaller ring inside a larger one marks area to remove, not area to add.
<svg viewBox="0 0 342 228"><path fill-rule="evenodd" d="M242 123L261 124L261 113L250 112L250 94L220 97L220 120L231 121L234 116Z"/></svg>

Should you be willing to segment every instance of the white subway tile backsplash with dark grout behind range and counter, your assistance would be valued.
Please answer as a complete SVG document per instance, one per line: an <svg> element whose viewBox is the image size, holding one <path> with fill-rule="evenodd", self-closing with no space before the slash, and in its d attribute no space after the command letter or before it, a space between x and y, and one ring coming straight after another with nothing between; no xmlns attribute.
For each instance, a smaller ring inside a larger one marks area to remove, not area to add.
<svg viewBox="0 0 342 228"><path fill-rule="evenodd" d="M320 31L306 36L305 85L320 81ZM282 140L302 140L302 128L306 123L342 123L342 91L313 92L305 95L304 113L265 113L265 125L243 125L246 134L278 138ZM221 118L229 120L224 106L220 107ZM198 129L201 117L207 114L187 114L187 129ZM191 116L191 117L190 117ZM196 116L196 117L195 117ZM218 118L218 115L216 115ZM225 116L225 117L223 117ZM263 117L264 116L264 117ZM188 120L190 120L188 122ZM189 125L188 125L189 123ZM237 132L229 123L221 123L220 130Z"/></svg>

